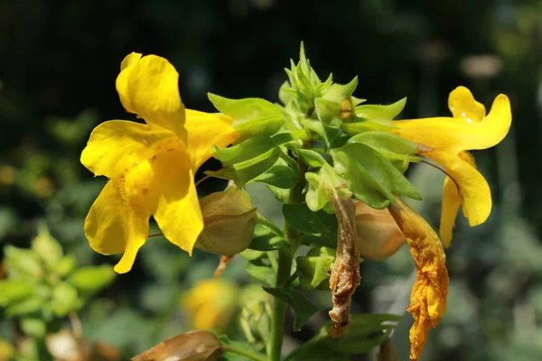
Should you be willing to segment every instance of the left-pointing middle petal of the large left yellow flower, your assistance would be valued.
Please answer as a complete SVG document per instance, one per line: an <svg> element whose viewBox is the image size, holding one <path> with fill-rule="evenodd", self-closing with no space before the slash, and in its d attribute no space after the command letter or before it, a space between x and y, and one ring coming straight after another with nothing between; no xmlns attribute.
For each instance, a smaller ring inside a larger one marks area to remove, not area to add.
<svg viewBox="0 0 542 361"><path fill-rule="evenodd" d="M113 178L117 163L126 153L141 153L149 144L172 135L164 130L151 131L140 123L110 120L94 128L81 153L81 163L96 176Z"/></svg>

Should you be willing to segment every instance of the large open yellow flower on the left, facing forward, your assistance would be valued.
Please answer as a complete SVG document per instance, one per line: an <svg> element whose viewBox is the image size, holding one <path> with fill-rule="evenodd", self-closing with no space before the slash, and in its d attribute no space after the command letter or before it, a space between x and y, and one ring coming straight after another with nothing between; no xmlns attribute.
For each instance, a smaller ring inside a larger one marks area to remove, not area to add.
<svg viewBox="0 0 542 361"><path fill-rule="evenodd" d="M90 134L81 162L109 180L85 219L90 246L102 255L124 255L115 266L126 273L145 244L149 218L164 236L192 254L203 228L194 173L237 132L228 116L185 110L179 74L164 58L126 56L117 92L129 113L146 124L110 120Z"/></svg>

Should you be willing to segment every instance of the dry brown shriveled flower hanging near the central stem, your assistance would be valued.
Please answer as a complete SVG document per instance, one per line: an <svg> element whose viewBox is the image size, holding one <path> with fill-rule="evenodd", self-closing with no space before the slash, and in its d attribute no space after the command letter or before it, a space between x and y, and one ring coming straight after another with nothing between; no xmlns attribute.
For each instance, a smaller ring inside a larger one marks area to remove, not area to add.
<svg viewBox="0 0 542 361"><path fill-rule="evenodd" d="M338 338L350 328L351 297L360 284L360 247L356 234L356 211L353 200L343 198L335 192L332 202L337 216L338 231L337 256L330 277L333 310L329 315L333 324L329 335Z"/></svg>

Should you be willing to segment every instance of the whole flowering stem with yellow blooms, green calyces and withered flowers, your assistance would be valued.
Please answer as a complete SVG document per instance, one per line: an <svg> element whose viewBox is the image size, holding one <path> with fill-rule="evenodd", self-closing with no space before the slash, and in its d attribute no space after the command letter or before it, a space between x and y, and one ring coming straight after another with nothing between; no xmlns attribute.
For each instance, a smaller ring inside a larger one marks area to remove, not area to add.
<svg viewBox="0 0 542 361"><path fill-rule="evenodd" d="M392 329L387 319L350 315L350 297L360 283L360 255L382 260L406 241L416 264L407 310L415 319L410 358L417 360L426 332L446 310L444 246L452 240L457 211L463 208L471 226L491 212L490 187L467 151L489 148L506 136L509 99L496 97L486 115L472 93L459 87L448 100L452 117L397 121L406 99L388 106L365 104L353 96L357 78L346 85L333 83L332 76L322 81L303 48L300 61L292 61L286 73L279 92L282 105L210 94L220 111L213 115L184 108L178 74L167 60L128 55L117 92L126 111L145 124L111 120L90 135L81 162L108 180L85 221L89 244L104 255L124 253L115 270L126 273L149 236L153 216L164 236L189 254L196 246L245 257L247 272L275 297L273 312L284 313L285 304L293 308L294 329L319 310L302 291L331 288L332 325L323 334L329 331L330 336L318 342L332 352L356 353L382 343ZM211 156L223 168L208 176L230 180L235 187L200 200L194 173ZM438 162L447 175L440 224L444 246L400 198L421 199L404 172L423 157ZM252 208L243 188L256 181L283 203L285 231ZM309 250L294 262L299 245ZM193 294L186 304L203 307L200 296ZM209 317L201 310L196 316L203 328ZM276 314L273 318L284 321ZM282 330L276 321L261 325L271 323L258 332L273 338L266 351L275 361ZM364 327L381 333L354 348L341 341L369 335ZM247 332L252 332L248 326Z"/></svg>

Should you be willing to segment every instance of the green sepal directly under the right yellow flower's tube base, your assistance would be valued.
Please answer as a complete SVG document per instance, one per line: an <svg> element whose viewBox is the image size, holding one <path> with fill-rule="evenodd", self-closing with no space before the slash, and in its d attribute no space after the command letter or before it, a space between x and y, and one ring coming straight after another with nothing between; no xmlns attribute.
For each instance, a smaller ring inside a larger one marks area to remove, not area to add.
<svg viewBox="0 0 542 361"><path fill-rule="evenodd" d="M401 172L406 171L410 162L422 160L421 157L415 155L420 152L417 143L388 132L373 131L357 134L352 136L349 142L369 145Z"/></svg>

